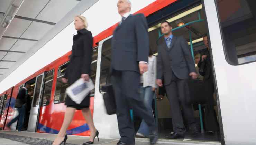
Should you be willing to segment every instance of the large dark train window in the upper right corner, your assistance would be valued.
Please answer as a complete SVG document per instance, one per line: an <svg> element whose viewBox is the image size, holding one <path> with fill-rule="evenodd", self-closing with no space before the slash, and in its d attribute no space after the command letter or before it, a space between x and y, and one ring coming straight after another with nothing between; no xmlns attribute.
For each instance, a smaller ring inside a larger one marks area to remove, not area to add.
<svg viewBox="0 0 256 145"><path fill-rule="evenodd" d="M216 2L227 61L232 65L256 61L256 2Z"/></svg>

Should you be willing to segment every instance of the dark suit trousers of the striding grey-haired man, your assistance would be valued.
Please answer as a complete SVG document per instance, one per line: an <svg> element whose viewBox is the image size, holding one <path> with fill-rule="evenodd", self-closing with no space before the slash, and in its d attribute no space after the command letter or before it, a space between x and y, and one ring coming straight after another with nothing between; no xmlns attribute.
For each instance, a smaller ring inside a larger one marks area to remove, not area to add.
<svg viewBox="0 0 256 145"><path fill-rule="evenodd" d="M152 112L146 111L143 98L140 97L140 74L135 71L114 70L111 78L116 97L120 141L126 144L135 144L135 131L130 109L133 109L141 119L145 120L151 131L156 130Z"/></svg>

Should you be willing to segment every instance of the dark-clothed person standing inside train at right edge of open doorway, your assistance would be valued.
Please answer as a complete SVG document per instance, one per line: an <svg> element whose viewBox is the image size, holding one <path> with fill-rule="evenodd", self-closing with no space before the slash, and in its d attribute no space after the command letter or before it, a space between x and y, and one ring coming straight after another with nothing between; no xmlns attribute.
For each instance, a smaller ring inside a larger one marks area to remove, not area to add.
<svg viewBox="0 0 256 145"><path fill-rule="evenodd" d="M202 75L204 76L204 83L206 83L205 85L207 85L207 89L208 91L210 91L210 95L206 96L207 104L205 106L204 125L207 132L214 133L216 131L219 131L219 124L214 110L214 81L210 57L210 48L207 36L203 37L203 42L207 49L201 52L201 58L198 62L198 67L200 69L204 65L205 68Z"/></svg>

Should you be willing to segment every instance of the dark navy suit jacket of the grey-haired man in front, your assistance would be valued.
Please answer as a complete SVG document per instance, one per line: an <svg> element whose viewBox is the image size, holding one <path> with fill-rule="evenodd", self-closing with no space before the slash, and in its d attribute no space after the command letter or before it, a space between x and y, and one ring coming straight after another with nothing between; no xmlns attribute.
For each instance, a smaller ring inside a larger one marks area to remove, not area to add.
<svg viewBox="0 0 256 145"><path fill-rule="evenodd" d="M143 14L129 15L115 31L111 42L111 67L139 72L139 61L148 62L148 25Z"/></svg>

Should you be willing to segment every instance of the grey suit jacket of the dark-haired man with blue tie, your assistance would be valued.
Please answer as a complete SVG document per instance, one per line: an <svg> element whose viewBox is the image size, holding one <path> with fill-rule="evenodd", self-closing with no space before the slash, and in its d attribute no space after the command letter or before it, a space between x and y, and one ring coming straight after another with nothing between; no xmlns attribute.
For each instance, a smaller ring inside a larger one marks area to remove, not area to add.
<svg viewBox="0 0 256 145"><path fill-rule="evenodd" d="M158 45L157 79L164 77L164 85L171 83L173 73L179 79L188 79L190 72L196 72L195 64L182 36L173 36L170 49L165 41Z"/></svg>

